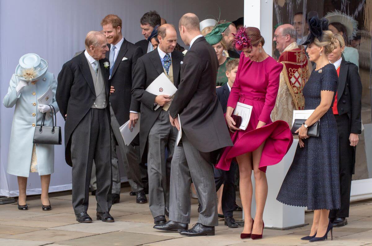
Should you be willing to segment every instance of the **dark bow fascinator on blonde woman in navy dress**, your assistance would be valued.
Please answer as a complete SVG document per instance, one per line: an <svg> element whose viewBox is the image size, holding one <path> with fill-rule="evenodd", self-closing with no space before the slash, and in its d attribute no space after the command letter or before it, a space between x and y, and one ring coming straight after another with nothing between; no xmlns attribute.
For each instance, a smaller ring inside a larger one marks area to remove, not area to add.
<svg viewBox="0 0 372 246"><path fill-rule="evenodd" d="M328 30L328 20L325 18L319 19L318 13L312 11L308 14L307 23L309 26L309 35L302 45L310 45L314 42L315 37L321 41L323 31Z"/></svg>

